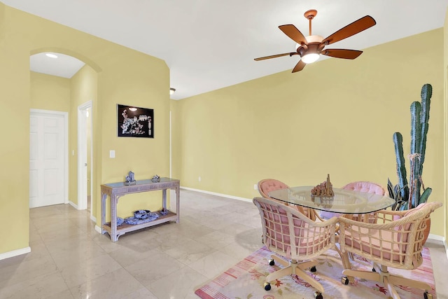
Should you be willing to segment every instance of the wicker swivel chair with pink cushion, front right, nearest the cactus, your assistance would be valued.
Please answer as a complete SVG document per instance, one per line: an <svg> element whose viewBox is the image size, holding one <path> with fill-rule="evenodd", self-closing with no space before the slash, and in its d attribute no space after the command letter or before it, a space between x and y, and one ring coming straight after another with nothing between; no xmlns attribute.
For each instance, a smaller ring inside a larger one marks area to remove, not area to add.
<svg viewBox="0 0 448 299"><path fill-rule="evenodd" d="M441 202L426 202L408 211L381 210L376 214L377 223L339 217L339 246L342 254L354 253L370 260L374 269L370 272L346 268L342 273L348 277L383 283L393 299L400 299L393 285L421 288L425 290L425 299L432 298L428 293L431 289L429 284L391 274L388 267L413 270L421 265L426 221L441 206ZM344 278L342 281L345 284L349 282Z"/></svg>

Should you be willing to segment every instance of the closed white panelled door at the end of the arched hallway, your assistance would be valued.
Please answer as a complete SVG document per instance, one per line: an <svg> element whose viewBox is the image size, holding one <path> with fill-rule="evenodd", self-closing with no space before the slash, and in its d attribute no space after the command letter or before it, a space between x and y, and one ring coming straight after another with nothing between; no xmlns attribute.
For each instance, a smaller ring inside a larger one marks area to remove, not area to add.
<svg viewBox="0 0 448 299"><path fill-rule="evenodd" d="M64 203L65 119L58 113L30 113L29 207Z"/></svg>

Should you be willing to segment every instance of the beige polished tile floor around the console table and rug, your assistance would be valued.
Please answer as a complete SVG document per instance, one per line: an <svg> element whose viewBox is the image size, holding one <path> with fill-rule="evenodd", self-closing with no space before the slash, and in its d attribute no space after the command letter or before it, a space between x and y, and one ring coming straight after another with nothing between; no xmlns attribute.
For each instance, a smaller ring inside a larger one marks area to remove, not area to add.
<svg viewBox="0 0 448 299"><path fill-rule="evenodd" d="M68 204L31 209L31 253L0 260L0 298L197 299L196 288L261 246L251 202L190 190L181 190L181 223L118 242L89 215ZM441 242L427 244L437 298L447 299L447 255Z"/></svg>

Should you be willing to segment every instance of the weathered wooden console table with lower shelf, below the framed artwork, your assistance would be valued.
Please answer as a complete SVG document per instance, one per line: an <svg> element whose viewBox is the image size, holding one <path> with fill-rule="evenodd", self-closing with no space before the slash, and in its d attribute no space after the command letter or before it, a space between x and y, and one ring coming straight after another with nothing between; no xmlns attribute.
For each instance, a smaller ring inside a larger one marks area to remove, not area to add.
<svg viewBox="0 0 448 299"><path fill-rule="evenodd" d="M176 190L176 213L168 211L167 215L161 215L159 218L136 225L123 223L117 227L117 204L118 199L123 195L131 193L141 193L154 190L162 190L162 207L167 209L167 189ZM180 210L180 181L178 179L160 178L160 181L153 182L151 179L136 181L134 185L125 185L125 183L106 183L101 186L101 228L102 234L106 232L111 236L111 240L116 242L120 235L125 235L126 232L140 230L141 228L148 228L149 226L158 225L169 221L176 221L179 223ZM111 197L111 222L106 223L106 198Z"/></svg>

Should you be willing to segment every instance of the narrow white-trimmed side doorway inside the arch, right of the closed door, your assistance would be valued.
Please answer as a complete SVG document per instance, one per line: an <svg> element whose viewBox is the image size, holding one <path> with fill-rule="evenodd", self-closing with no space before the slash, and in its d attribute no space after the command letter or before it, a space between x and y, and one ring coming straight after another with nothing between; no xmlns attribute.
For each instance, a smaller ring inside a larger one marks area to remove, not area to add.
<svg viewBox="0 0 448 299"><path fill-rule="evenodd" d="M86 121L87 117L85 112L90 109L90 120L92 125L92 101L85 102L78 106L78 207L77 209L87 209L87 167L84 163L87 163L87 134L86 134ZM91 126L92 127L92 126ZM93 128L92 128L93 131ZM90 146L93 144L90 142ZM90 175L93 177L93 160L92 160L92 148L90 148ZM92 182L90 182L90 205L93 204ZM90 207L90 216L92 216L92 207Z"/></svg>

